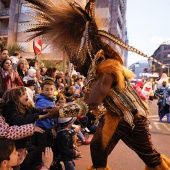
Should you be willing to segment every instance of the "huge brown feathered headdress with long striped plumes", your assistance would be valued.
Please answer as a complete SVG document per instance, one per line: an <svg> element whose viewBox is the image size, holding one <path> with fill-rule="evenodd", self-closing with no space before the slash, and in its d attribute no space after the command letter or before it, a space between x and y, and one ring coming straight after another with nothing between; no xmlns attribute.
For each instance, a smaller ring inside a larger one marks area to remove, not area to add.
<svg viewBox="0 0 170 170"><path fill-rule="evenodd" d="M95 22L95 0L89 0L85 9L72 0L59 0L57 3L52 0L26 1L27 5L36 10L38 15L27 14L40 21L39 24L30 24L32 28L25 31L34 32L27 41L46 34L58 50L66 52L72 59L79 60L82 65L87 57L93 60L94 55L100 49L104 50L106 58L114 58L123 64L120 55L103 41L103 39L107 39L125 50L135 52L163 65L114 35L104 30L98 30Z"/></svg>

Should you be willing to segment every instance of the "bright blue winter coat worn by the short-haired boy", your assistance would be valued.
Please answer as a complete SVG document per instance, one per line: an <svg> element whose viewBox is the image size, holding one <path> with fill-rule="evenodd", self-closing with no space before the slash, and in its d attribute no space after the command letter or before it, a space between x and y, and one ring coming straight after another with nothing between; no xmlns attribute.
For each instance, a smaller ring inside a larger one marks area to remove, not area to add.
<svg viewBox="0 0 170 170"><path fill-rule="evenodd" d="M45 96L43 93L39 94L36 99L36 108L47 108L55 105L55 100ZM36 126L43 129L52 129L54 126L54 119L37 120Z"/></svg>

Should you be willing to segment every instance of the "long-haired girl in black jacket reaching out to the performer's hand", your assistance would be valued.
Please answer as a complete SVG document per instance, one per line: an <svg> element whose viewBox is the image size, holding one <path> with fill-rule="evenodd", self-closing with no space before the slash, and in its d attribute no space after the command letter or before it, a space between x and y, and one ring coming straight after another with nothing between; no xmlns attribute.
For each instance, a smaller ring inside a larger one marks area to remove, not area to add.
<svg viewBox="0 0 170 170"><path fill-rule="evenodd" d="M5 117L6 122L10 126L20 126L24 124L34 123L37 119L45 119L49 116L49 114L39 115L44 114L43 110L32 107L31 103L28 100L26 88L23 86L8 90L3 96L3 101L4 102L2 105L2 113ZM28 155L24 162L27 162L27 164L31 165L35 161L35 158L33 158L35 155L33 153L36 152L36 150L32 147L31 138L25 137L23 139L16 140L15 143L16 148L20 149L20 151L21 149L28 150ZM36 152L36 155L39 155L39 153Z"/></svg>

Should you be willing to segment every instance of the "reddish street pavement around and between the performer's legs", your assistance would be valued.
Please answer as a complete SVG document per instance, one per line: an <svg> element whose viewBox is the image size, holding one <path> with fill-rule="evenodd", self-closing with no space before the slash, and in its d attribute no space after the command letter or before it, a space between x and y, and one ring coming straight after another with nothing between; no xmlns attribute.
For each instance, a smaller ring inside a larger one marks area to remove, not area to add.
<svg viewBox="0 0 170 170"><path fill-rule="evenodd" d="M170 123L167 123L167 118L164 117L162 122L158 122L157 100L154 100L149 105L150 115L150 131L152 142L156 150L165 154L170 158ZM90 135L90 139L93 135ZM80 145L79 150L83 157L75 160L76 170L85 170L86 167L92 165L90 157L90 146ZM108 165L111 170L144 170L143 161L128 148L122 141L119 141L108 158Z"/></svg>

